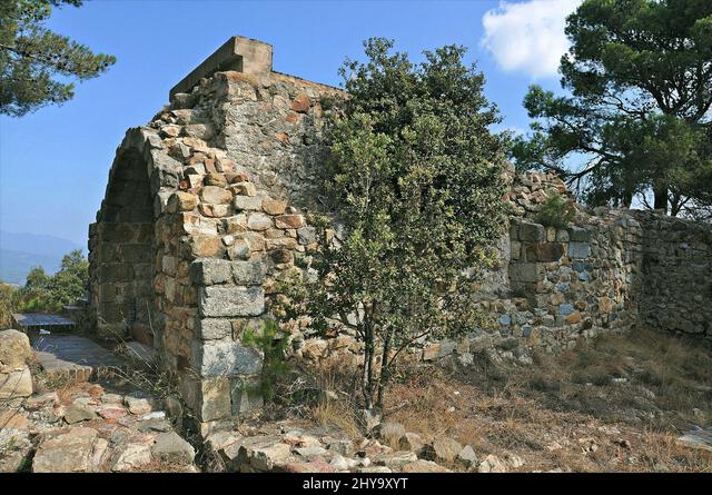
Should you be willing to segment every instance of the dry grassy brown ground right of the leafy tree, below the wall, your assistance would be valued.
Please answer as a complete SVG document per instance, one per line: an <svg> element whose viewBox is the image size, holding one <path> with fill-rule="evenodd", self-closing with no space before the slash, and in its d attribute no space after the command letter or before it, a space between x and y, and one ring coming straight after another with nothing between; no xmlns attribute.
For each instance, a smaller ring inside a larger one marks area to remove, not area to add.
<svg viewBox="0 0 712 495"><path fill-rule="evenodd" d="M712 452L676 438L712 420L712 346L636 330L578 344L532 366L421 370L390 392L389 419L446 435L512 471L712 472Z"/></svg>

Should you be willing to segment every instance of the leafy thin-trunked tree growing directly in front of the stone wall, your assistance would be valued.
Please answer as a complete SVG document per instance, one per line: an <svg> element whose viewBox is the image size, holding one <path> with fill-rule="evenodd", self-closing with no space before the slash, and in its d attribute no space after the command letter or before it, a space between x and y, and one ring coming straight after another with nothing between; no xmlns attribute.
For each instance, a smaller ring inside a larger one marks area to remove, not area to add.
<svg viewBox="0 0 712 495"><path fill-rule="evenodd" d="M393 366L427 337L485 324L473 296L504 225L504 143L496 108L465 49L425 51L413 63L393 41L365 42L365 63L340 69L349 97L329 131L327 210L295 300L319 331L364 343L363 395L382 407ZM338 240L340 237L340 241ZM298 313L298 311L297 311Z"/></svg>

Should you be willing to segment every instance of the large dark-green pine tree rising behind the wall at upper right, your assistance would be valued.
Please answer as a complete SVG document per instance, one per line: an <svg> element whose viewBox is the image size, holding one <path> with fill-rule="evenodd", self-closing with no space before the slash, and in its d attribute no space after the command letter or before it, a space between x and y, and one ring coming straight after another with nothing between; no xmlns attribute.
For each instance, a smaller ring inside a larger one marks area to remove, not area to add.
<svg viewBox="0 0 712 495"><path fill-rule="evenodd" d="M560 172L591 205L678 215L712 182L712 2L584 0L566 20L566 96L532 86L520 168ZM582 164L583 161L583 164ZM706 181L705 181L706 179Z"/></svg>

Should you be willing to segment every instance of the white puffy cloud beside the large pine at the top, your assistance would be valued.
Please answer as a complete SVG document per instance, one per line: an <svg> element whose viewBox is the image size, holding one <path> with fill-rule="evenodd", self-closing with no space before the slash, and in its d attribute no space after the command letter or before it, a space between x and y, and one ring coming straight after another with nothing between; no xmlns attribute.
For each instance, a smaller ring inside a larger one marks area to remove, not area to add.
<svg viewBox="0 0 712 495"><path fill-rule="evenodd" d="M558 60L568 49L566 17L582 0L502 1L482 18L482 46L502 69L533 78L555 76Z"/></svg>

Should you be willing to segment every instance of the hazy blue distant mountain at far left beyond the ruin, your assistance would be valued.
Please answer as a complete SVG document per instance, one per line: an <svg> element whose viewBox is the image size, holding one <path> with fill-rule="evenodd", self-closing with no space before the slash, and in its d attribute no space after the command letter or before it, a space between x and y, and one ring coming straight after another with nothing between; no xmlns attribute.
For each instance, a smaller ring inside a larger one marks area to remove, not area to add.
<svg viewBox="0 0 712 495"><path fill-rule="evenodd" d="M53 274L59 269L62 256L81 248L61 237L0 230L0 280L23 285L28 271L36 266Z"/></svg>

